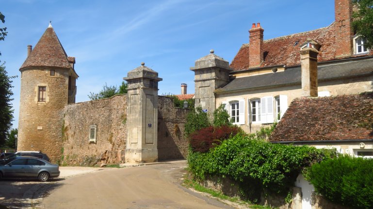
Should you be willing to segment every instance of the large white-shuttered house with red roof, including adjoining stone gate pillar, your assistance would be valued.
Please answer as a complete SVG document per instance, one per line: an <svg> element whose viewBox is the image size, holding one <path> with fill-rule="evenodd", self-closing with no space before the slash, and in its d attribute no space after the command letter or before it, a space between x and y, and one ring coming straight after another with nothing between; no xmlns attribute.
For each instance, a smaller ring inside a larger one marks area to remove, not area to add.
<svg viewBox="0 0 373 209"><path fill-rule="evenodd" d="M373 50L354 33L352 12L351 0L335 0L329 26L270 40L253 24L230 64L213 52L195 61L195 105L212 113L226 104L233 123L255 133L295 98L373 91Z"/></svg>

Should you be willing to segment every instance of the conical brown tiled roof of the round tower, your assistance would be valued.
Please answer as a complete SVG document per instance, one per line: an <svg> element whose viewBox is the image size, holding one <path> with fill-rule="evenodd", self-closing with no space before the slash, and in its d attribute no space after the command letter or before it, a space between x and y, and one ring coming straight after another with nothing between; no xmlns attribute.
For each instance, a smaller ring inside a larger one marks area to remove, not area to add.
<svg viewBox="0 0 373 209"><path fill-rule="evenodd" d="M41 66L71 68L65 49L51 25L44 32L19 70Z"/></svg>

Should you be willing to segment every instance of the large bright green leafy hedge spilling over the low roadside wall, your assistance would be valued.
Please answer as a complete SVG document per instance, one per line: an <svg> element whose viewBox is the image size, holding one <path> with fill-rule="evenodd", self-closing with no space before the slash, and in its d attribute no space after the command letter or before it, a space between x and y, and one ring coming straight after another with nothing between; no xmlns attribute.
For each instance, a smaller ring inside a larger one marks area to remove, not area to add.
<svg viewBox="0 0 373 209"><path fill-rule="evenodd" d="M190 151L187 160L198 179L227 177L260 194L286 193L303 168L334 156L335 150L273 144L238 134L210 152Z"/></svg>

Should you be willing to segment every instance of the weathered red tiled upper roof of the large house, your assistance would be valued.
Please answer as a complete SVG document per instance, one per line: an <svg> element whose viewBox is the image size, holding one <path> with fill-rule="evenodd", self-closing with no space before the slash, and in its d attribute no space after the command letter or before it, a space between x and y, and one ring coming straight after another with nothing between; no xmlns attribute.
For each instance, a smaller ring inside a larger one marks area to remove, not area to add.
<svg viewBox="0 0 373 209"><path fill-rule="evenodd" d="M300 64L300 46L308 38L311 38L321 45L317 60L327 61L335 59L335 32L334 23L328 27L307 32L296 33L263 41L264 60L261 67L285 65L293 66ZM298 42L297 45L294 45ZM372 55L371 51L369 55ZM237 70L248 69L249 66L249 44L243 44L230 67Z"/></svg>

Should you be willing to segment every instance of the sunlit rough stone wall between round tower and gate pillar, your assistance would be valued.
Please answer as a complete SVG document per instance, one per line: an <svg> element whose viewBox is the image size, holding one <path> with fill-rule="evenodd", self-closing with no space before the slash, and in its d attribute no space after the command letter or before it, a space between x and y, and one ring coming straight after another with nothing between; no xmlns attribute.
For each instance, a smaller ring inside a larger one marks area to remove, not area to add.
<svg viewBox="0 0 373 209"><path fill-rule="evenodd" d="M124 163L127 137L127 94L65 106L62 165ZM89 141L97 125L96 142Z"/></svg>

